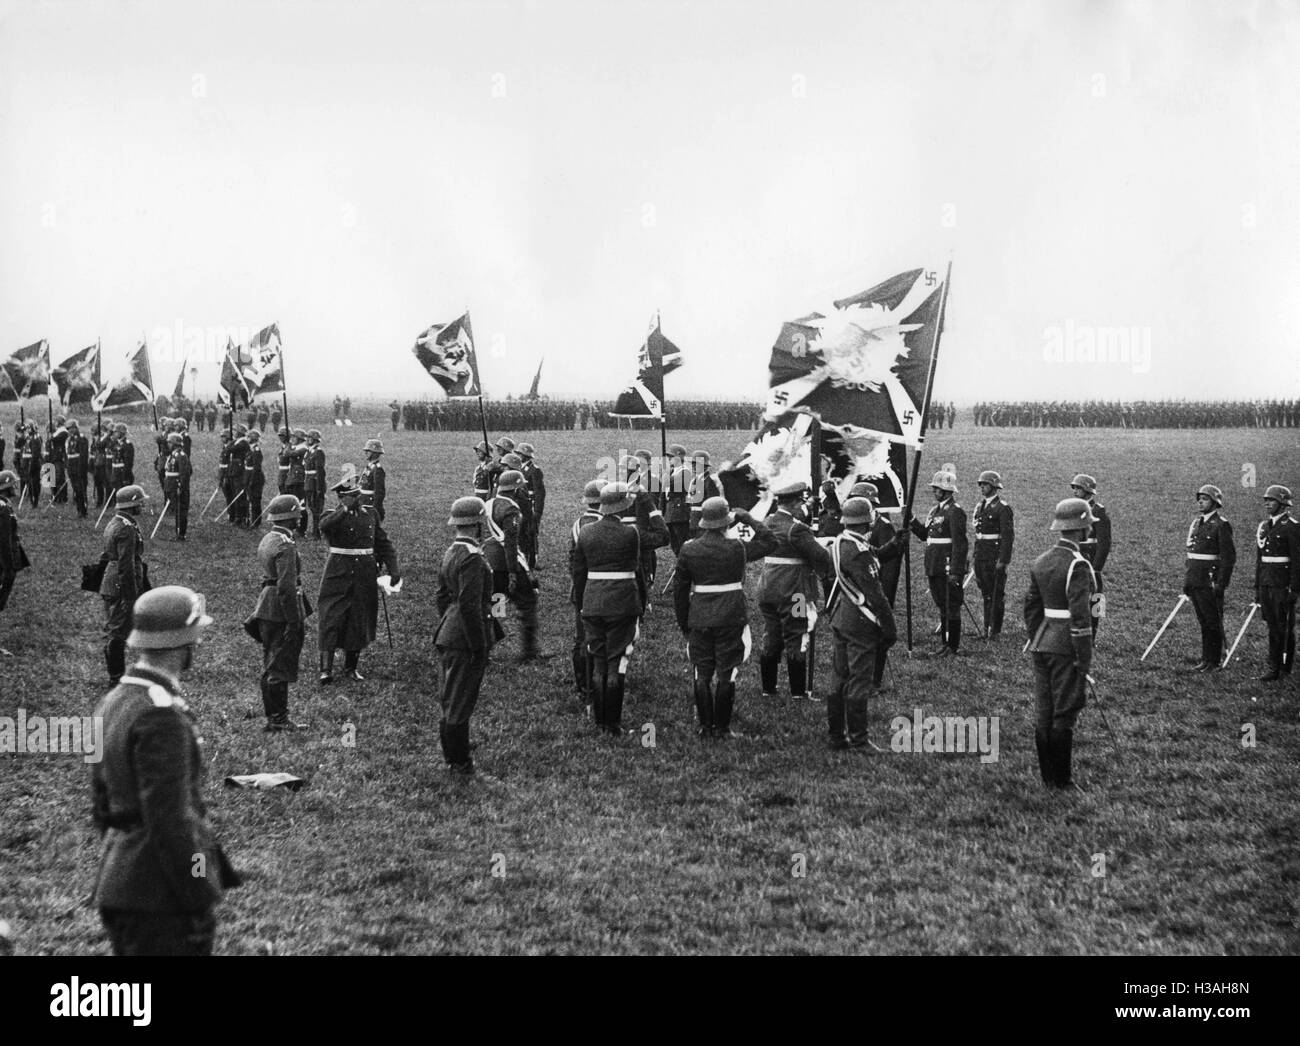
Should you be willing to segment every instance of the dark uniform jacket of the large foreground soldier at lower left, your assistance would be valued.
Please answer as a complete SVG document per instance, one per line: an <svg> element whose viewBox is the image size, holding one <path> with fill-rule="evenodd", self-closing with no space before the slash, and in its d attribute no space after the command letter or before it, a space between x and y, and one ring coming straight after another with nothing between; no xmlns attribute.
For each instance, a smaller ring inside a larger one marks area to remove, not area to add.
<svg viewBox="0 0 1300 1046"><path fill-rule="evenodd" d="M135 912L204 912L239 885L207 823L194 720L164 674L136 665L95 709L103 759L91 771L103 833L94 903ZM200 859L202 855L202 859Z"/></svg>

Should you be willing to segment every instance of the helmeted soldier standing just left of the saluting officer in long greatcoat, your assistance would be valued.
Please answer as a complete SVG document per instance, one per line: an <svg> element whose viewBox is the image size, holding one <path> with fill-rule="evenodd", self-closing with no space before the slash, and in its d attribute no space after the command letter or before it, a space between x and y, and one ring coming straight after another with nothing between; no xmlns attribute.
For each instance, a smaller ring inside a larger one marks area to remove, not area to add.
<svg viewBox="0 0 1300 1046"><path fill-rule="evenodd" d="M303 505L292 494L272 498L266 505L270 529L257 546L261 589L252 617L261 638L261 706L269 733L296 730L289 719L289 685L298 682L298 663L311 608L303 595L303 561L292 528Z"/></svg>

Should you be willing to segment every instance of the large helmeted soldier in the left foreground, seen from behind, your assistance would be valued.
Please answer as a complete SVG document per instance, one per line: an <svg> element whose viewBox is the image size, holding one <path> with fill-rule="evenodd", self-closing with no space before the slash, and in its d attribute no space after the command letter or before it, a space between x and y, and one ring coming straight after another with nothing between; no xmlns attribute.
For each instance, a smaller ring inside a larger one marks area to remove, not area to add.
<svg viewBox="0 0 1300 1046"><path fill-rule="evenodd" d="M91 771L103 852L92 903L114 955L211 955L214 908L239 874L203 804L203 754L181 677L212 624L203 596L169 585L140 596L138 660L99 703L103 759Z"/></svg>

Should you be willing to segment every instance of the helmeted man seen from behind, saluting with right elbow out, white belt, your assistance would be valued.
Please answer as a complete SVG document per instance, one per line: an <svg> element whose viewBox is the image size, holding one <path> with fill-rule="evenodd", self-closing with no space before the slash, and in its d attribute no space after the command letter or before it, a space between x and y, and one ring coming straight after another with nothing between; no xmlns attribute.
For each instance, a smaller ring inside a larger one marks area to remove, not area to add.
<svg viewBox="0 0 1300 1046"><path fill-rule="evenodd" d="M754 531L753 538L727 537L737 520ZM725 738L731 735L736 676L750 651L745 565L774 551L776 537L745 509L732 513L724 498L705 502L699 529L699 537L677 555L673 602L690 656L699 735Z"/></svg>

